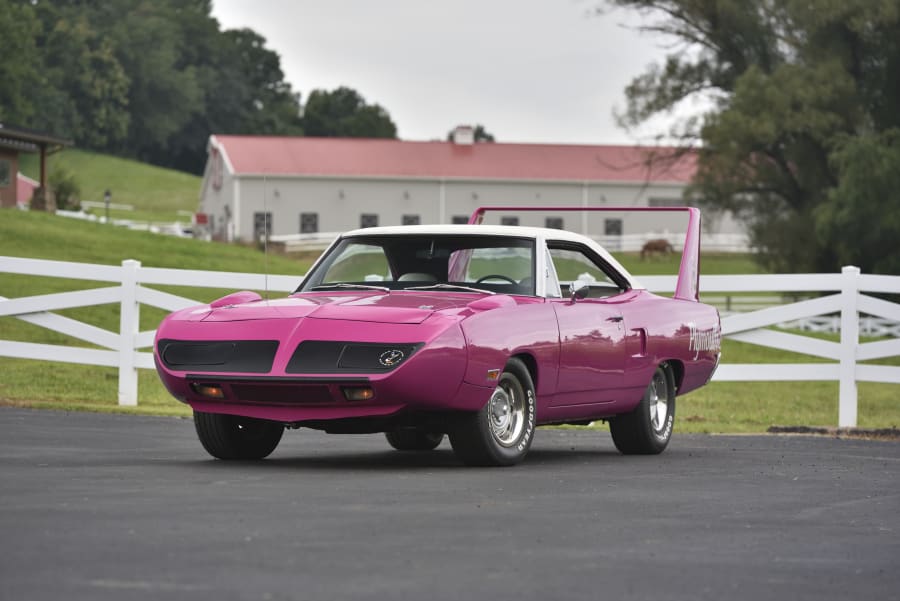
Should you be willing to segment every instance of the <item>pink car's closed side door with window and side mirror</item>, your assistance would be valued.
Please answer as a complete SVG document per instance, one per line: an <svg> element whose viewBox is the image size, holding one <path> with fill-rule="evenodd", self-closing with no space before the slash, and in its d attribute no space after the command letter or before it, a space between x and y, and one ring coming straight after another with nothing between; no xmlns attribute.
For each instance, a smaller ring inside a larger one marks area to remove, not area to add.
<svg viewBox="0 0 900 601"><path fill-rule="evenodd" d="M624 385L626 324L623 282L589 248L570 242L548 242L562 298L551 299L559 325L560 359L553 405L611 403ZM574 299L572 282L587 296Z"/></svg>

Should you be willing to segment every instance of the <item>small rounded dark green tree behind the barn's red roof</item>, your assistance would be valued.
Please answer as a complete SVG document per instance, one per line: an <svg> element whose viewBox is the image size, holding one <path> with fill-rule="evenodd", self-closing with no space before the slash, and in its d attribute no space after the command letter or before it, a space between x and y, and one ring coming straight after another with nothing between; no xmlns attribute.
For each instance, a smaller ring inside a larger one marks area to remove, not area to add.
<svg viewBox="0 0 900 601"><path fill-rule="evenodd" d="M308 136L397 137L397 126L388 112L377 104L366 104L359 92L347 87L332 92L313 90L303 108L302 125Z"/></svg>

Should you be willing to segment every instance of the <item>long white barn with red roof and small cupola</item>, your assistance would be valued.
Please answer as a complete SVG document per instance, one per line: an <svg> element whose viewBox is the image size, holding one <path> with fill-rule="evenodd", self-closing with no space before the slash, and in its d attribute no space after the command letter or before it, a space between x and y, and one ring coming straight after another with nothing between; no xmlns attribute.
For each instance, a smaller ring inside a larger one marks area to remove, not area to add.
<svg viewBox="0 0 900 601"><path fill-rule="evenodd" d="M465 223L485 205L673 206L695 157L674 149L277 136L210 136L199 228L216 239L342 232L359 227ZM266 215L268 214L268 220ZM678 215L678 214L674 214ZM613 250L629 234L683 232L681 217L647 213L489 214L496 222L567 229ZM712 227L710 227L712 226ZM708 234L739 234L730 219ZM613 242L610 244L610 242Z"/></svg>

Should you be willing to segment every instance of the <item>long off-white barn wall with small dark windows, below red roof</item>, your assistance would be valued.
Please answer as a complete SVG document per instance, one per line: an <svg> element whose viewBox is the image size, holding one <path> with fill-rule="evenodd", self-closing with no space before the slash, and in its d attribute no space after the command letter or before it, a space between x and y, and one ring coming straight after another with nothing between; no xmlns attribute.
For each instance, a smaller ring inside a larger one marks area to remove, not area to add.
<svg viewBox="0 0 900 601"><path fill-rule="evenodd" d="M208 169L209 172L209 169ZM420 223L451 223L468 218L477 207L520 206L648 206L681 205L683 186L677 184L634 184L547 181L475 181L439 179L327 178L285 176L240 176L228 170L221 185L204 177L200 211L212 219L214 237L233 240L254 238L255 215L271 215L273 235L301 231L301 214L316 215L319 232L342 232L363 225L364 214L377 215L377 225L399 225L417 217ZM617 231L609 220L621 219L623 235L646 232L683 232L685 218L665 213L554 213L509 214L497 212L488 222L503 217L518 218L519 225L547 225L546 219L560 218L563 227L589 235L609 235ZM728 217L707 219L711 233L740 233L741 227Z"/></svg>

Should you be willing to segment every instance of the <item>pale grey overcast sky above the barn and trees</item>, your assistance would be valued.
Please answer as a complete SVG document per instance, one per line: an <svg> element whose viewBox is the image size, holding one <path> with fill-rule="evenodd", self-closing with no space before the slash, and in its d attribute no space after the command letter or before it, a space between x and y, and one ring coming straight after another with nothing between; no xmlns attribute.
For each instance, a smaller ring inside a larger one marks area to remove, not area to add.
<svg viewBox="0 0 900 601"><path fill-rule="evenodd" d="M305 99L348 86L387 109L404 140L481 123L501 142L631 144L614 107L665 40L591 0L214 0L249 27ZM643 136L643 137L641 137Z"/></svg>

